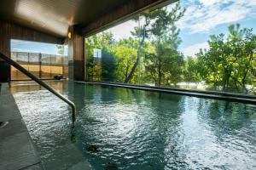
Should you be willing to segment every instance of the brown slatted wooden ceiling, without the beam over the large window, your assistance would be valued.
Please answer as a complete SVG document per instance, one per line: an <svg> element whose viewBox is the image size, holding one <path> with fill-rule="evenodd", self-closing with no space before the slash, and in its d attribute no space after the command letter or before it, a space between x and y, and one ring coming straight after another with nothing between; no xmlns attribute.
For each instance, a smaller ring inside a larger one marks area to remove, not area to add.
<svg viewBox="0 0 256 170"><path fill-rule="evenodd" d="M9 21L57 37L67 27L86 26L129 0L1 0L0 20Z"/></svg>

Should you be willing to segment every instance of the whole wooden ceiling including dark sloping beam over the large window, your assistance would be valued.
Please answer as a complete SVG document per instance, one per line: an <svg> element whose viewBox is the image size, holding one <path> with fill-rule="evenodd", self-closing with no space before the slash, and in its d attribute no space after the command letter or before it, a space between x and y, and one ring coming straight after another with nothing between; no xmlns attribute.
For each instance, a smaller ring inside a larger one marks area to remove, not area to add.
<svg viewBox="0 0 256 170"><path fill-rule="evenodd" d="M69 26L91 32L148 6L177 0L1 0L0 20L67 37Z"/></svg>

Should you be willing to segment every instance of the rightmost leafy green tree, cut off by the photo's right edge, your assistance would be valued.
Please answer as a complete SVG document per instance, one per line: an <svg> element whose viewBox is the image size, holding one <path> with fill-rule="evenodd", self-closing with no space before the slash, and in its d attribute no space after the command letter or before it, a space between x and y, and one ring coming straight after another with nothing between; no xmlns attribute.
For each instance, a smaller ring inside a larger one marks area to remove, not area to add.
<svg viewBox="0 0 256 170"><path fill-rule="evenodd" d="M238 24L231 25L229 31L228 41L237 59L231 79L238 90L241 88L247 93L247 84L253 85L255 82L253 71L256 68L253 63L256 62L256 35L253 35L253 29L240 29Z"/></svg>

